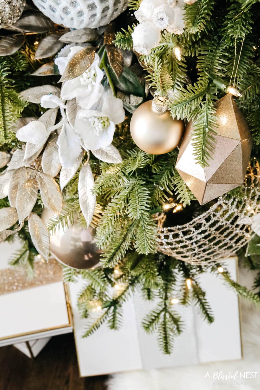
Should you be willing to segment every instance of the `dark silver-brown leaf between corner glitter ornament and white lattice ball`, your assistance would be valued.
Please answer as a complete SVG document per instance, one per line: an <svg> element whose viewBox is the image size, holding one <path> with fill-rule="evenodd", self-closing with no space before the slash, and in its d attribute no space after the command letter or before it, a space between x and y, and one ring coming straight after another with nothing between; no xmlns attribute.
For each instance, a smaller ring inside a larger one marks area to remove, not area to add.
<svg viewBox="0 0 260 390"><path fill-rule="evenodd" d="M41 12L30 11L25 16L21 16L12 27L25 32L49 32L54 25Z"/></svg>

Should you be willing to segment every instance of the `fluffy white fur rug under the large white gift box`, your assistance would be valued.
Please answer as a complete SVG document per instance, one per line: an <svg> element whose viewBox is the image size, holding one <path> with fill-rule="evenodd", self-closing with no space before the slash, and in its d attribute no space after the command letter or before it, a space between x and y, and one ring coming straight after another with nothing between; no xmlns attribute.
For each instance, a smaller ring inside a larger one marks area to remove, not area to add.
<svg viewBox="0 0 260 390"><path fill-rule="evenodd" d="M250 287L248 271L240 271L240 282ZM250 275L251 277L251 275ZM260 312L241 300L243 359L176 367L151 371L130 371L114 374L108 379L108 390L259 390L260 389ZM213 380L214 372L237 378ZM240 379L240 372L252 373L253 378ZM207 376L209 374L210 378Z"/></svg>

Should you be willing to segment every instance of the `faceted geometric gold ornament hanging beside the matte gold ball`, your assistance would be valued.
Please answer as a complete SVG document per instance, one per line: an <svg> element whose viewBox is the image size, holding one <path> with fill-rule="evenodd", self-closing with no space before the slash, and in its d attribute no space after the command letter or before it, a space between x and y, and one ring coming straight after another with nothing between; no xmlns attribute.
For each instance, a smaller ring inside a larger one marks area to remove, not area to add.
<svg viewBox="0 0 260 390"><path fill-rule="evenodd" d="M189 122L180 146L176 169L200 204L240 186L252 149L246 119L230 94L217 102L218 134L209 167L202 168L193 156L193 123Z"/></svg>

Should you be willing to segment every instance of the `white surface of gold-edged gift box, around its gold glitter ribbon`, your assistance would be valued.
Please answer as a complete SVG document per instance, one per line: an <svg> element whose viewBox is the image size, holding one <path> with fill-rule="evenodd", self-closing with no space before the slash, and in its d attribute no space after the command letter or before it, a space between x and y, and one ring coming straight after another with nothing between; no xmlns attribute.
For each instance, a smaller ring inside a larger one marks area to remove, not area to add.
<svg viewBox="0 0 260 390"><path fill-rule="evenodd" d="M4 278L3 275L7 268L10 268L8 259L20 247L19 240L11 244L1 243L0 275L2 275L2 280L0 283L2 286L4 283L7 284L6 277ZM44 269L42 272L44 273ZM10 280L10 286L14 292L8 290L7 293L0 294L0 346L46 339L73 331L62 278L60 277L60 280L53 283L45 282L45 284L44 281L42 283L42 285L39 283L31 288L20 286L20 290L17 291L14 281ZM35 351L36 349L35 346Z"/></svg>

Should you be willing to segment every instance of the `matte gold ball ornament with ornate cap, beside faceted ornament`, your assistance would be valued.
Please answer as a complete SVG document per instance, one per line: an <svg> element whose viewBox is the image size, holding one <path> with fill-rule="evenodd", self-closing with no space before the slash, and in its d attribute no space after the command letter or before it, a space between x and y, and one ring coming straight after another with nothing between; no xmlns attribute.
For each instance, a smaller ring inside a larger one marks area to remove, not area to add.
<svg viewBox="0 0 260 390"><path fill-rule="evenodd" d="M131 136L140 149L151 154L164 154L179 145L184 122L172 119L164 97L154 97L141 104L130 122Z"/></svg>

